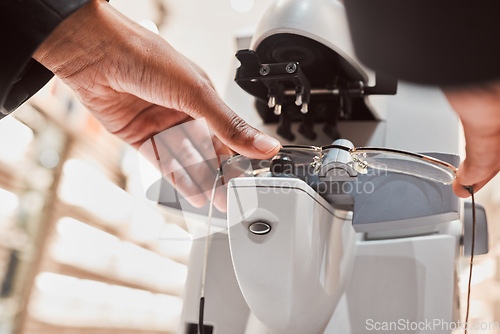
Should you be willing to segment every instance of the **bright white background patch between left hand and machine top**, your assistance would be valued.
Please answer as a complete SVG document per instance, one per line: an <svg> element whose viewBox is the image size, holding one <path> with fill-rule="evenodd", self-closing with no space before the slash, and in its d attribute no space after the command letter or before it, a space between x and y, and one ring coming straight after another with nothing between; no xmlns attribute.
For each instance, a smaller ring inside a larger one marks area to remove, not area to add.
<svg viewBox="0 0 500 334"><path fill-rule="evenodd" d="M160 34L177 50L200 65L219 93L235 71L235 33L256 26L269 0L163 0L168 14ZM112 0L128 17L157 20L153 0ZM241 13L233 7L251 7ZM250 6L251 5L251 6Z"/></svg>

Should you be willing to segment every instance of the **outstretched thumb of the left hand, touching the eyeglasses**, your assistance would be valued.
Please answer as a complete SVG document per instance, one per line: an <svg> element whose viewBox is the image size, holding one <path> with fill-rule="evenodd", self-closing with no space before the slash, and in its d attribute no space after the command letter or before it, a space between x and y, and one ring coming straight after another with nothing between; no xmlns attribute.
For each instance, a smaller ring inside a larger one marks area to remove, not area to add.
<svg viewBox="0 0 500 334"><path fill-rule="evenodd" d="M150 52L168 56L160 57L154 64L142 64L147 69L144 80L148 85L138 87L135 82L124 80L120 82L121 90L165 108L183 111L195 119L205 117L217 137L240 154L265 159L278 153L279 141L254 129L236 115L174 48L148 31L144 31L144 35L150 35ZM141 69L139 65L137 68Z"/></svg>

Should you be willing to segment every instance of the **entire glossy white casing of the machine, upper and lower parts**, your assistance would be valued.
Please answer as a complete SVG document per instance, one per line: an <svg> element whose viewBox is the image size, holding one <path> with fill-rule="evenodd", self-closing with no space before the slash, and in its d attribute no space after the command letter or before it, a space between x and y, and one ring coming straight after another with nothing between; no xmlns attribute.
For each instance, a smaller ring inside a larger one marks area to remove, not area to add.
<svg viewBox="0 0 500 334"><path fill-rule="evenodd" d="M251 45L244 47L255 49L265 37L282 32L322 42L371 77L352 52L345 14L338 1L276 1L263 16ZM226 103L253 126L277 136L276 124L263 124L254 108L254 98L239 88L233 77L231 73L224 94ZM396 95L370 96L367 101L379 121L339 122L342 137L355 146L458 152L459 122L439 88L399 83ZM315 141L302 137L297 127L292 127L297 135L294 143L331 143L321 131L322 124L316 125ZM279 178L238 179L229 189L233 267L253 313L245 334L368 333L365 325L369 318L457 320L455 263L460 229L453 232L448 228L457 221L450 218L425 231L398 228L371 233L378 240L362 240L365 235L358 234L355 267L345 288L345 274L352 262L349 257L354 253L350 223L334 218L321 206L322 198L303 182L285 181L289 184L286 189L280 188L284 181ZM271 232L264 236L251 234L247 226L256 219L270 223ZM213 258L220 263L219 255ZM195 257L193 252L192 259ZM234 330L224 327L231 317L225 316L225 305L240 298L233 294L228 300L217 301L221 313L217 314L219 318L213 318L214 324L219 322L217 333L234 334ZM191 312L192 321L196 310Z"/></svg>

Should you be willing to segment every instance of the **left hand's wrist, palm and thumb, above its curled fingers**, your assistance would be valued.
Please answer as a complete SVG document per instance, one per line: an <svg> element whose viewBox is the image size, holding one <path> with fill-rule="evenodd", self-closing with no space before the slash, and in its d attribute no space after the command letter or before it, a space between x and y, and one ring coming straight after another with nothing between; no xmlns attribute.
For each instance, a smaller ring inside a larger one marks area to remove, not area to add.
<svg viewBox="0 0 500 334"><path fill-rule="evenodd" d="M72 88L107 130L136 148L165 129L202 117L216 135L219 155L232 150L269 158L280 148L229 109L207 78L164 39L103 0L92 0L62 22L33 57ZM177 144L179 152L196 148L191 140ZM184 181L197 183L193 177ZM191 194L179 183L176 187ZM195 196L192 203L204 201Z"/></svg>

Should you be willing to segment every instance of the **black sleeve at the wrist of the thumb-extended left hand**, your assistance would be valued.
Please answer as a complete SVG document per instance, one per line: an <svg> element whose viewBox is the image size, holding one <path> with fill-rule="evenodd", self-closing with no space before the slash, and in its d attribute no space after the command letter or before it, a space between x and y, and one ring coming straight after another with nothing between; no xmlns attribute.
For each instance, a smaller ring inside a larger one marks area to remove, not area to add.
<svg viewBox="0 0 500 334"><path fill-rule="evenodd" d="M65 18L90 0L0 0L0 119L52 77L31 56Z"/></svg>

